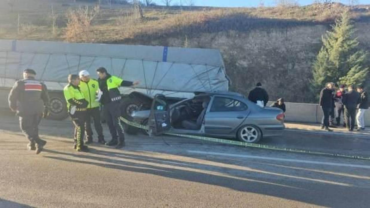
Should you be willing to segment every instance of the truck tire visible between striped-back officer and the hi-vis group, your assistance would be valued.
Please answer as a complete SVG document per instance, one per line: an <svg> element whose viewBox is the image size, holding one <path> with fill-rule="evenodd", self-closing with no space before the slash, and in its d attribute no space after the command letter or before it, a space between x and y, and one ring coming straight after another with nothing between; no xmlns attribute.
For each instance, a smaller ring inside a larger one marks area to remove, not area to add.
<svg viewBox="0 0 370 208"><path fill-rule="evenodd" d="M61 121L67 118L67 103L65 102L63 93L52 92L49 93L49 97L50 115L47 117L47 119Z"/></svg>

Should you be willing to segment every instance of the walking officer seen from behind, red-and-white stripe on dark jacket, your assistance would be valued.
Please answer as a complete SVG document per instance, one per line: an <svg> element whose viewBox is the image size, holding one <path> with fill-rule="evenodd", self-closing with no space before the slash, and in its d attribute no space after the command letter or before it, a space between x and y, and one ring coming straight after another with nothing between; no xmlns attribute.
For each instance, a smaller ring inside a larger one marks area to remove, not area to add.
<svg viewBox="0 0 370 208"><path fill-rule="evenodd" d="M43 150L46 141L38 136L38 124L41 117L47 117L49 97L44 83L35 80L36 72L32 69L23 71L23 80L16 81L9 94L9 107L19 115L20 128L30 141L28 150Z"/></svg>

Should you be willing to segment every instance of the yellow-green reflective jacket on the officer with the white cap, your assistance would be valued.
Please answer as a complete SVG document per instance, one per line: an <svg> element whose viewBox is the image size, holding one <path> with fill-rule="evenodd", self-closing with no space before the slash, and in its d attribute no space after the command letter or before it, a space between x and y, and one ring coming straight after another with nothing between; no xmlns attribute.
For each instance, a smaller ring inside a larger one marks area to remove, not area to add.
<svg viewBox="0 0 370 208"><path fill-rule="evenodd" d="M99 90L99 83L97 80L90 79L87 83L80 81L80 90L84 94L85 100L89 102L87 108L96 108L100 106L99 101L96 100L96 93Z"/></svg>

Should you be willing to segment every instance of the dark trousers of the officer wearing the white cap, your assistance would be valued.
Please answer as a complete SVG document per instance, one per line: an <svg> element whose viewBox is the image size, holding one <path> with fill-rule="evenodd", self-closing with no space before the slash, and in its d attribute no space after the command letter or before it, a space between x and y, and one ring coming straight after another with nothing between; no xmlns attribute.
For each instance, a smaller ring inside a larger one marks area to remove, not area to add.
<svg viewBox="0 0 370 208"><path fill-rule="evenodd" d="M86 138L87 140L92 140L92 128L91 128L91 118L94 121L95 131L98 134L98 139L103 140L103 128L101 126L100 121L100 109L99 107L96 108L88 108L86 113L86 122L85 122L85 130L86 130Z"/></svg>

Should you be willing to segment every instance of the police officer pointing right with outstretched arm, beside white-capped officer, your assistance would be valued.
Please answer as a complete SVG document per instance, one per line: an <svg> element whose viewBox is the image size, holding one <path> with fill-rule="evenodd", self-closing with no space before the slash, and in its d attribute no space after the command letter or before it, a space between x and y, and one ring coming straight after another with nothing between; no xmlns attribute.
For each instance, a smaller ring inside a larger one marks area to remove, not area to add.
<svg viewBox="0 0 370 208"><path fill-rule="evenodd" d="M139 84L138 81L124 81L119 77L108 74L104 67L100 67L97 70L99 79L99 87L103 92L100 99L103 105L104 114L109 127L109 131L112 136L110 142L105 143L107 146L116 145L115 148L122 148L125 146L124 128L120 121L121 117L121 93L118 90L121 86L132 86ZM118 133L118 141L117 141Z"/></svg>

